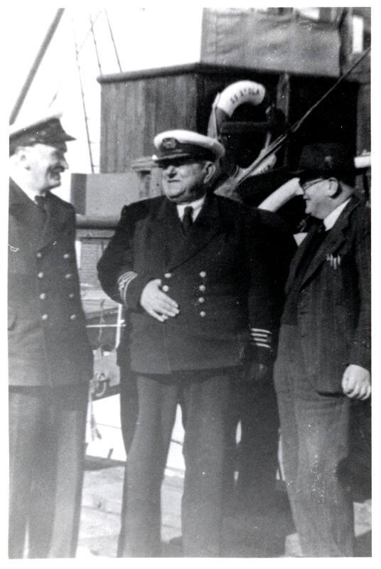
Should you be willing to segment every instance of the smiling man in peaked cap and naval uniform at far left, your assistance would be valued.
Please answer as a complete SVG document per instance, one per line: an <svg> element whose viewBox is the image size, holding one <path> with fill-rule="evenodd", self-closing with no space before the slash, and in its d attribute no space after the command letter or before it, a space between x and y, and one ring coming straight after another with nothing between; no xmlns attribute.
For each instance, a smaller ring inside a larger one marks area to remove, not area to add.
<svg viewBox="0 0 381 569"><path fill-rule="evenodd" d="M60 115L9 137L10 558L73 557L77 543L92 353L75 211L50 193L70 140Z"/></svg>

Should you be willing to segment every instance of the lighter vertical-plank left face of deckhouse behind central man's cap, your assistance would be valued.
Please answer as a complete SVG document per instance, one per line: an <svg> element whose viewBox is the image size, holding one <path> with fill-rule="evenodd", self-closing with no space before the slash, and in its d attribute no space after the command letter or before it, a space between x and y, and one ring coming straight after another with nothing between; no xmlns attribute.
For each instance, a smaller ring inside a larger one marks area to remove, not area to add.
<svg viewBox="0 0 381 569"><path fill-rule="evenodd" d="M102 171L125 171L153 154L158 132L195 129L196 101L192 74L102 85Z"/></svg>

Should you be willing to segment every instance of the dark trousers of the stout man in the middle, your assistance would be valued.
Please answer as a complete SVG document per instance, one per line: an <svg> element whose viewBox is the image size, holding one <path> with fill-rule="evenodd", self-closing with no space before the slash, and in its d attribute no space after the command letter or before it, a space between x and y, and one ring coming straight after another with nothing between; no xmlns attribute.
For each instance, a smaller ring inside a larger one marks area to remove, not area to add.
<svg viewBox="0 0 381 569"><path fill-rule="evenodd" d="M133 380L131 380L133 381ZM133 384L132 384L133 385ZM161 555L161 484L180 403L186 464L182 499L184 554L218 557L222 529L222 473L230 373L226 370L136 376L139 400L134 434L127 433L119 557ZM122 390L122 428L131 409ZM129 425L131 427L131 425Z"/></svg>

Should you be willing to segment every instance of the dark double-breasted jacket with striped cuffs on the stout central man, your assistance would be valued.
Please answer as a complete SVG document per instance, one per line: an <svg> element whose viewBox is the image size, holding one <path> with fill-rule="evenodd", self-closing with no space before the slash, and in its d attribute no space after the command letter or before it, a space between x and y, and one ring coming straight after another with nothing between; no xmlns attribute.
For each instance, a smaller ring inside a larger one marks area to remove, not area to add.
<svg viewBox="0 0 381 569"><path fill-rule="evenodd" d="M125 206L98 263L102 287L117 302L121 279L129 282L119 363L141 373L223 368L240 365L247 346L267 363L293 248L274 214L213 193L187 235L165 196ZM165 322L140 305L153 279L178 302L179 314Z"/></svg>

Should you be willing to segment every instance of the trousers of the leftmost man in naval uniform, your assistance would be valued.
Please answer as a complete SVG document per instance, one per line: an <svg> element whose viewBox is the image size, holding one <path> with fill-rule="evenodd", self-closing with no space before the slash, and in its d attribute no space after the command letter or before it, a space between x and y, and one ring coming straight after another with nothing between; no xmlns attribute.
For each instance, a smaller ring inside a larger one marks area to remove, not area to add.
<svg viewBox="0 0 381 569"><path fill-rule="evenodd" d="M9 388L9 558L75 556L87 394Z"/></svg>

